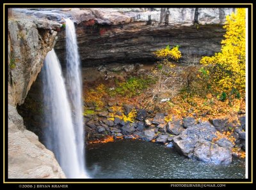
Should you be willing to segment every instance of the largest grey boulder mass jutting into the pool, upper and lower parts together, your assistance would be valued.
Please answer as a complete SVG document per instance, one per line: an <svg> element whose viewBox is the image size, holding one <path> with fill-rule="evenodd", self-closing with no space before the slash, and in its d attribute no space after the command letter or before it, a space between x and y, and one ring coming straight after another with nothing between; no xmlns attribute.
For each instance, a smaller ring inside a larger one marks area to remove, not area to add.
<svg viewBox="0 0 256 190"><path fill-rule="evenodd" d="M173 145L184 156L214 164L230 164L232 161L231 143L225 139L219 145L213 143L216 129L209 122L201 122L173 138ZM233 145L232 145L233 146ZM226 148L228 147L228 148Z"/></svg>

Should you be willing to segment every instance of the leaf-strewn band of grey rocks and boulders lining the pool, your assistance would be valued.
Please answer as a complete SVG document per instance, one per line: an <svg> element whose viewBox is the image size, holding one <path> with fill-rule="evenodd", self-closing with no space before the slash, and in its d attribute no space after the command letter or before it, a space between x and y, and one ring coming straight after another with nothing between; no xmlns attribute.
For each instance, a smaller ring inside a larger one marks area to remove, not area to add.
<svg viewBox="0 0 256 190"><path fill-rule="evenodd" d="M205 163L230 164L232 156L239 157L234 150L245 150L245 115L239 116L239 122L227 119L196 121L195 117L178 118L173 115L166 121L167 114L140 110L134 105L123 105L125 115L136 110L134 122L119 117L114 120L110 115L116 103L109 102L106 111L84 116L88 143L104 143L116 138L137 138L173 147L177 152L191 159ZM118 105L118 103L117 103ZM93 109L92 106L89 107ZM120 115L122 113L116 113ZM232 138L223 134L234 130ZM105 139L105 140L104 140Z"/></svg>

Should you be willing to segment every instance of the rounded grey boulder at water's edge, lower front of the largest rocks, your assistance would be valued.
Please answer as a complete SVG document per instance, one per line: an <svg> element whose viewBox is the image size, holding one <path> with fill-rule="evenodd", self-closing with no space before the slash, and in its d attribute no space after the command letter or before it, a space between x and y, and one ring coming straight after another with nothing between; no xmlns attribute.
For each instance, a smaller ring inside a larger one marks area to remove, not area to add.
<svg viewBox="0 0 256 190"><path fill-rule="evenodd" d="M205 163L230 164L232 162L232 152L215 143L198 143L193 152L193 158Z"/></svg>

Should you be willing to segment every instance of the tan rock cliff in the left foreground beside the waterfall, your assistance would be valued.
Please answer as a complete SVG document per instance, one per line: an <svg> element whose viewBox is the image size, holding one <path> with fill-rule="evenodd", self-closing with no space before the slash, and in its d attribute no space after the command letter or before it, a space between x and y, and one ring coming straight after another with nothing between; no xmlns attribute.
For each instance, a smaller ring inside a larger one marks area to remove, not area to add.
<svg viewBox="0 0 256 190"><path fill-rule="evenodd" d="M56 43L58 22L24 15L8 20L8 178L65 178L54 154L26 130L16 110Z"/></svg>

